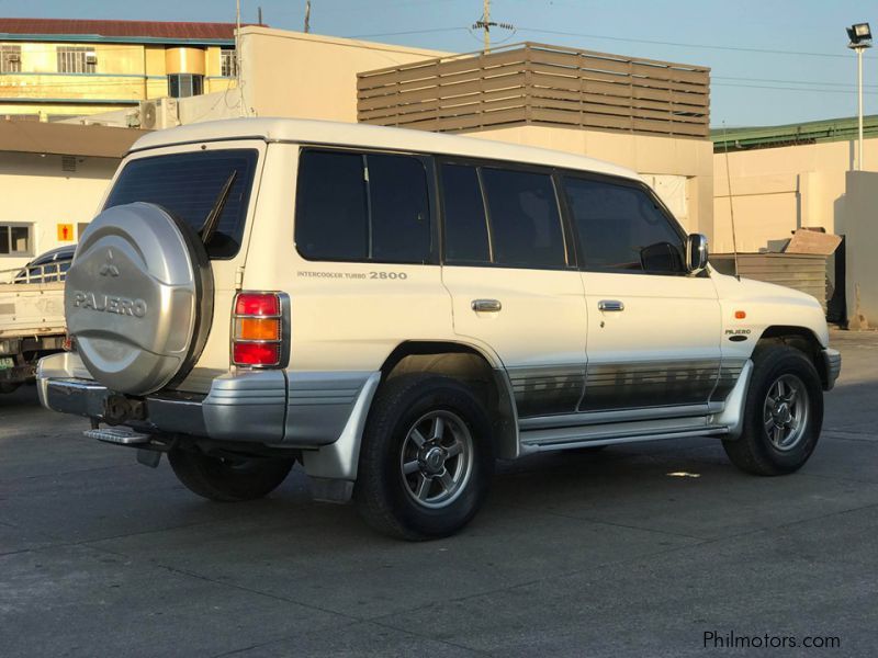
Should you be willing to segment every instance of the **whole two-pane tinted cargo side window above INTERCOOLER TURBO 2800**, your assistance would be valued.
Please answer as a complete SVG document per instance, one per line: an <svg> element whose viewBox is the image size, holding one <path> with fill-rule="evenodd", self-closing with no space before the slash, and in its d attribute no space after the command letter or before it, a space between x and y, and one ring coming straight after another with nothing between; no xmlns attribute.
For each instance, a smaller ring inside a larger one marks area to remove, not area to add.
<svg viewBox="0 0 878 658"><path fill-rule="evenodd" d="M427 172L418 158L305 150L299 162L295 243L304 258L429 261Z"/></svg>

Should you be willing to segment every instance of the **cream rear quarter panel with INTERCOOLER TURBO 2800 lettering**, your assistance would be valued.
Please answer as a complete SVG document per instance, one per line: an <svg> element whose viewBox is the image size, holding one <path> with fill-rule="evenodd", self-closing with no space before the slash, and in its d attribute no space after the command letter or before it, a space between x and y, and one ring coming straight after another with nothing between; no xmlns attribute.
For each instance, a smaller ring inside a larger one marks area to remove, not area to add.
<svg viewBox="0 0 878 658"><path fill-rule="evenodd" d="M308 261L299 254L299 151L294 144L268 149L244 279L247 290L290 295L289 371L374 372L405 340L453 340L439 265Z"/></svg>

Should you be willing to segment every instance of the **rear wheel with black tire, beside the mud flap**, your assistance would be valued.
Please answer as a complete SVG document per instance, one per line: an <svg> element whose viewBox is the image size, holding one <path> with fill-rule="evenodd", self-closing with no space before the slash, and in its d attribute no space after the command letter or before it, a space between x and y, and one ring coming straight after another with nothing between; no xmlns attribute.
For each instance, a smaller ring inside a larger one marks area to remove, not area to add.
<svg viewBox="0 0 878 658"><path fill-rule="evenodd" d="M436 430L437 419L442 420L438 440L437 431L429 438L418 431ZM391 379L372 405L360 449L353 495L362 518L379 532L408 541L448 536L466 525L494 472L491 427L482 402L455 379L431 374ZM418 445L416 436L427 441ZM406 466L415 464L419 469L406 475Z"/></svg>

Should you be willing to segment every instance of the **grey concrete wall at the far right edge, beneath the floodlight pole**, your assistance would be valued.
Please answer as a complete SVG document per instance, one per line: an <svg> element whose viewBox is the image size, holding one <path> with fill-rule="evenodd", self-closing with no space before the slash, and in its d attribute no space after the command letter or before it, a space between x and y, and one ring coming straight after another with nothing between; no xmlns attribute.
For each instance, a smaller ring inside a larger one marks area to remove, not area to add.
<svg viewBox="0 0 878 658"><path fill-rule="evenodd" d="M878 172L848 171L836 201L835 227L847 238L847 319L878 329Z"/></svg>

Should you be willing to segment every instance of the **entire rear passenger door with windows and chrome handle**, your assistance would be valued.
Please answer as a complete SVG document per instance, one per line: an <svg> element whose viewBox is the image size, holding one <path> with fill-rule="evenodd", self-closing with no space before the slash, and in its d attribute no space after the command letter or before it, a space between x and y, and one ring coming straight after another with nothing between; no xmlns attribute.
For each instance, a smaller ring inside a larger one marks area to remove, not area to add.
<svg viewBox="0 0 878 658"><path fill-rule="evenodd" d="M519 417L575 411L586 311L551 173L453 160L439 170L455 334L499 356Z"/></svg>

